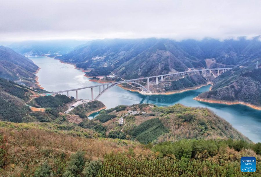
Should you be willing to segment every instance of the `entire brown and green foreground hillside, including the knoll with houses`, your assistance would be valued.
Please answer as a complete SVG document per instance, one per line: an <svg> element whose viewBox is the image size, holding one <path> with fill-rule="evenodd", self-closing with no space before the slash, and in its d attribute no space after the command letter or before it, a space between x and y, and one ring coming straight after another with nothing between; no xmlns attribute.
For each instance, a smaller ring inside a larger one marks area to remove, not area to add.
<svg viewBox="0 0 261 177"><path fill-rule="evenodd" d="M241 156L261 168L261 143L204 108L118 106L79 125L68 118L0 121L0 176L244 176Z"/></svg>

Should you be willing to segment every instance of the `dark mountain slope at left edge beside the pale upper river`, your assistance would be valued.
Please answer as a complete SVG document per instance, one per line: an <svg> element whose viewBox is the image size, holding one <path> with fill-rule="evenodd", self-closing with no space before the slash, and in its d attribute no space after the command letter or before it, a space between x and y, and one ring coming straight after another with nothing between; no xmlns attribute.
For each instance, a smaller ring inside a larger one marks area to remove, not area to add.
<svg viewBox="0 0 261 177"><path fill-rule="evenodd" d="M30 59L14 52L10 48L0 46L0 77L12 81L24 79L33 81L38 66Z"/></svg>

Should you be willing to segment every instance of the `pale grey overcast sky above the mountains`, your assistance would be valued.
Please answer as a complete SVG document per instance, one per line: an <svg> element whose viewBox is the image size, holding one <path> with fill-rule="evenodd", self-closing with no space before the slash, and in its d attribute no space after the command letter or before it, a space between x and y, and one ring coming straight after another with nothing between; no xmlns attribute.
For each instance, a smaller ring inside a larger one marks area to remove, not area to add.
<svg viewBox="0 0 261 177"><path fill-rule="evenodd" d="M0 0L0 41L260 34L260 0Z"/></svg>

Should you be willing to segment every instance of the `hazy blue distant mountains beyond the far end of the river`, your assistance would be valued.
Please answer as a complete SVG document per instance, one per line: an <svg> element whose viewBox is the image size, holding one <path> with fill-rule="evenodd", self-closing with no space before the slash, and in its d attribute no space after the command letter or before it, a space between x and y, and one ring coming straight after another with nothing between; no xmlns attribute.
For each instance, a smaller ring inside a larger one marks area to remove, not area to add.
<svg viewBox="0 0 261 177"><path fill-rule="evenodd" d="M8 45L9 48L24 56L52 54L52 56L66 54L76 46L86 43L77 40L52 40L52 41L23 41Z"/></svg>

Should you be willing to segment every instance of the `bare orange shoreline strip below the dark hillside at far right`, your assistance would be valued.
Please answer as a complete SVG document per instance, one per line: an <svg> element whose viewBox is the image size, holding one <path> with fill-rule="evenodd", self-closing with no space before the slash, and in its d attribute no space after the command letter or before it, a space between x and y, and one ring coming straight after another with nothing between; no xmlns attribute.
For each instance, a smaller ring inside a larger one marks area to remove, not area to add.
<svg viewBox="0 0 261 177"><path fill-rule="evenodd" d="M251 107L252 109L255 109L255 110L261 110L261 106L252 105L252 104L250 104L250 103L245 103L245 102L243 102L243 101L210 100L210 99L206 99L206 98L200 98L200 97L198 97L198 96L196 96L195 98L193 98L193 100L201 101L201 102L206 102L206 103L224 104L224 105L245 105L245 106Z"/></svg>

